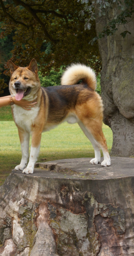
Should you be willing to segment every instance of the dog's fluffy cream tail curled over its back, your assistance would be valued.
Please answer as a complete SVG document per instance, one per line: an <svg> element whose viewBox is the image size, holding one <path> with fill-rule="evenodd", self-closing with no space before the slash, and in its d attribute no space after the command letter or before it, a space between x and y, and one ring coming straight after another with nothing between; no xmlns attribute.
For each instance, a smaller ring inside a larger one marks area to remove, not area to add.
<svg viewBox="0 0 134 256"><path fill-rule="evenodd" d="M87 67L83 64L72 64L67 67L64 74L61 78L62 85L72 85L77 84L82 80L82 82L88 84L88 86L92 89L96 89L96 76L93 69Z"/></svg>

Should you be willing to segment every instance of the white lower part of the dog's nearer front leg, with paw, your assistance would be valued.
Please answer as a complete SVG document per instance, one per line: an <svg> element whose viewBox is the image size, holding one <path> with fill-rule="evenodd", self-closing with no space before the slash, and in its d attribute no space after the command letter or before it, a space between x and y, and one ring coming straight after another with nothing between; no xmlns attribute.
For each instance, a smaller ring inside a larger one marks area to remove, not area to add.
<svg viewBox="0 0 134 256"><path fill-rule="evenodd" d="M31 146L29 163L28 163L28 166L23 170L23 173L26 173L26 174L33 173L34 165L35 165L37 157L39 155L39 149L40 149L40 145L38 148L33 148Z"/></svg>

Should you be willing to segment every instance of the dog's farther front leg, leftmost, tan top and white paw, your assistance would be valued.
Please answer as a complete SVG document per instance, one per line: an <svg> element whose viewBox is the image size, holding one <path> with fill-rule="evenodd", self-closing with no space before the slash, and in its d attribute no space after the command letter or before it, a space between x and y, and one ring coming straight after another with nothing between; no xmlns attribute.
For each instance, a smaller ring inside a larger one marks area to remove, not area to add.
<svg viewBox="0 0 134 256"><path fill-rule="evenodd" d="M25 169L28 162L30 134L26 131L22 131L21 129L18 129L18 135L21 142L22 158L21 158L21 163L15 167L15 170L23 171L23 169Z"/></svg>

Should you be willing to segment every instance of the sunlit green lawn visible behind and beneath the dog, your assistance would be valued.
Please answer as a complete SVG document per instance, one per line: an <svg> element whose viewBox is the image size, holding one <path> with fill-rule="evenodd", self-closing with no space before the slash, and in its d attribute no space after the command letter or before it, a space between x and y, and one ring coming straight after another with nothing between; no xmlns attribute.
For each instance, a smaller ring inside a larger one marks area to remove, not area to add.
<svg viewBox="0 0 134 256"><path fill-rule="evenodd" d="M21 161L18 130L15 123L10 120L13 120L10 106L0 108L0 185ZM103 132L110 152L113 140L112 131L103 124ZM78 124L71 125L65 122L42 134L39 162L80 157L94 157L94 150Z"/></svg>

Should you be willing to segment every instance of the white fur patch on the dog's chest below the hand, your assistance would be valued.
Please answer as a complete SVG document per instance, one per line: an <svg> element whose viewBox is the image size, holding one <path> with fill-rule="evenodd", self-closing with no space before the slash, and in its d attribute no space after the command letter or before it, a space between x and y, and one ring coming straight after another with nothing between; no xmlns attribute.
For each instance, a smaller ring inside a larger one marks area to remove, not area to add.
<svg viewBox="0 0 134 256"><path fill-rule="evenodd" d="M31 108L31 110L28 111L15 105L13 108L15 124L23 128L25 131L31 132L31 126L35 123L35 119L38 115L38 112L38 107Z"/></svg>

